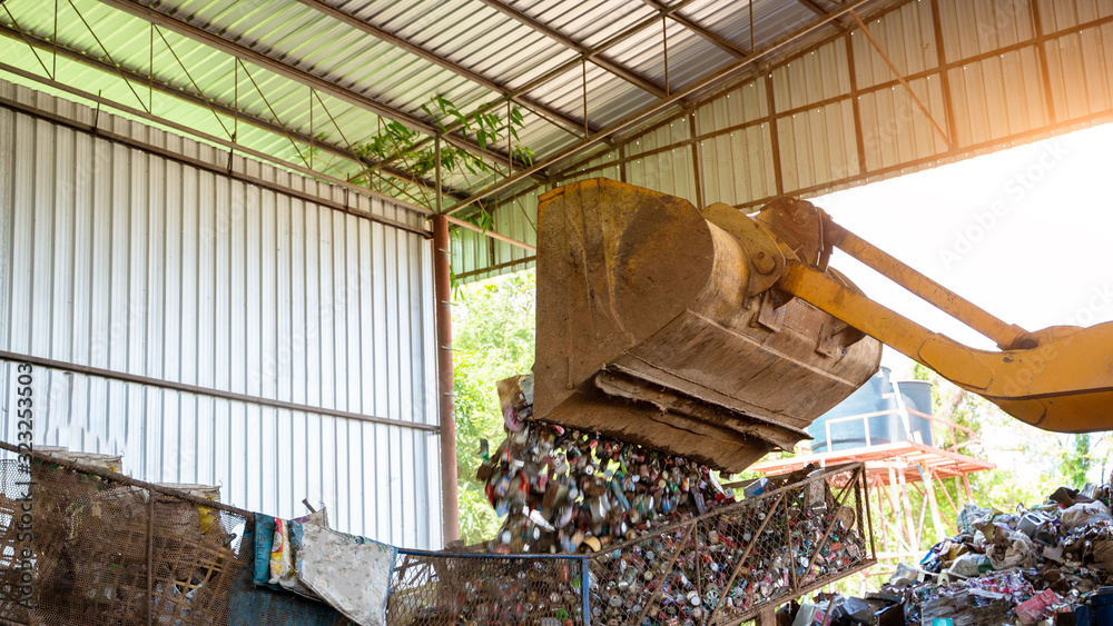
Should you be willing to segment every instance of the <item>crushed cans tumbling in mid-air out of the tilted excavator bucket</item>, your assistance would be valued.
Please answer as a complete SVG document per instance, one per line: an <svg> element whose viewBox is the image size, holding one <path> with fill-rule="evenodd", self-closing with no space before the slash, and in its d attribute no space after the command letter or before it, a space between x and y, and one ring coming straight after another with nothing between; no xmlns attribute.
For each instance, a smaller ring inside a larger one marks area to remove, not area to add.
<svg viewBox="0 0 1113 626"><path fill-rule="evenodd" d="M598 552L735 501L707 466L634 444L531 421L529 378L500 384L506 439L477 478L506 516L490 552ZM523 389L521 384L525 382Z"/></svg>

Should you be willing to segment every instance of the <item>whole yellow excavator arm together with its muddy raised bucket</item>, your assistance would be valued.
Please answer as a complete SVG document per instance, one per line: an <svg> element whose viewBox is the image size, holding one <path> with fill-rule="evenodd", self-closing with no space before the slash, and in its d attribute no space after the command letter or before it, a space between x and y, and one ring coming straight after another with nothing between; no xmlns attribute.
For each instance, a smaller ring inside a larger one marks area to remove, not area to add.
<svg viewBox="0 0 1113 626"><path fill-rule="evenodd" d="M834 248L993 339L976 350L863 295ZM880 344L1040 428L1113 427L1113 322L1028 332L810 202L747 216L607 179L541 198L536 419L738 471L876 371Z"/></svg>

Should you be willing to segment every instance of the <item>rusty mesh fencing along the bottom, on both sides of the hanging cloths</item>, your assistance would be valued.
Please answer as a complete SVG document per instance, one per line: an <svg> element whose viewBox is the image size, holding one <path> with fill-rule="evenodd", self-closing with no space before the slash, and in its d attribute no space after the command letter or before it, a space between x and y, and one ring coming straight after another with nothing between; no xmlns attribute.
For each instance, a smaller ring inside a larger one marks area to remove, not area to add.
<svg viewBox="0 0 1113 626"><path fill-rule="evenodd" d="M873 564L863 494L856 465L590 556L401 550L387 624L738 624ZM349 624L255 587L253 514L40 460L0 461L0 619Z"/></svg>

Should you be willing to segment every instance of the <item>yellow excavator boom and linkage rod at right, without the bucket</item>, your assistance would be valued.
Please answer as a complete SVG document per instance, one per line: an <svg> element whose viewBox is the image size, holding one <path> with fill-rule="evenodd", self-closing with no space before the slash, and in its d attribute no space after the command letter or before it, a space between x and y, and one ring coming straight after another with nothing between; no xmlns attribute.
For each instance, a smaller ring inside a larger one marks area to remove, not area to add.
<svg viewBox="0 0 1113 626"><path fill-rule="evenodd" d="M789 264L778 282L780 289L1027 424L1060 433L1113 428L1113 322L1091 328L1055 326L1037 332L1006 325L820 215L830 244L1002 349L977 350L933 332L799 261Z"/></svg>

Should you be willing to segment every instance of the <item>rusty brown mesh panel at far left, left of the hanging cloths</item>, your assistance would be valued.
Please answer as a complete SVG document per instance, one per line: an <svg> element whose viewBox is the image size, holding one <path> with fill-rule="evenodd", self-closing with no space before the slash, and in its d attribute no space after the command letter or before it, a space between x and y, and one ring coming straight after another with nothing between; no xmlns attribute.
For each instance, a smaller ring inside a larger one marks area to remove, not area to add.
<svg viewBox="0 0 1113 626"><path fill-rule="evenodd" d="M228 623L249 563L244 516L41 460L0 461L0 476L4 619ZM20 580L31 563L33 576Z"/></svg>

